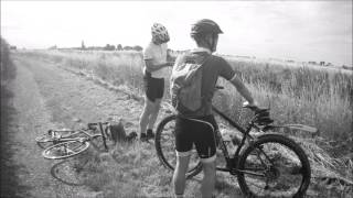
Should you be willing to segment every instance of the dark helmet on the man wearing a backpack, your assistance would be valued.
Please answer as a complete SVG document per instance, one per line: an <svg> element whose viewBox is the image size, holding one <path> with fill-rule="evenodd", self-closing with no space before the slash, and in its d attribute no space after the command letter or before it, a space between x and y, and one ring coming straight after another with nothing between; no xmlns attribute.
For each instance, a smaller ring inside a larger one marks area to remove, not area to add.
<svg viewBox="0 0 353 198"><path fill-rule="evenodd" d="M192 25L190 34L191 36L195 36L207 33L222 34L223 32L216 22L208 19L203 19Z"/></svg>

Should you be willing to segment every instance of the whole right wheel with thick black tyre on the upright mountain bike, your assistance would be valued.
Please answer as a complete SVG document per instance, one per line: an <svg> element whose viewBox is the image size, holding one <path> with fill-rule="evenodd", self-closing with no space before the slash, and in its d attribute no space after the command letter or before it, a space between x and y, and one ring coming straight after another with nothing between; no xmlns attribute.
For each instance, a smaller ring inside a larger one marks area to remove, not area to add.
<svg viewBox="0 0 353 198"><path fill-rule="evenodd" d="M279 146L284 146L284 148L279 148ZM257 154L264 154L265 152L267 156L264 155L265 157L261 160L261 156ZM256 153L257 158L254 153ZM293 155L298 157L297 161L289 162L289 160L293 158ZM303 197L309 187L311 178L310 163L304 151L295 141L284 135L270 133L259 136L255 142L250 143L246 148L243 150L242 155L239 156L237 168L239 170L258 168L259 164L264 165L263 161L268 161L268 158L270 158L271 156L274 157L270 160L270 163L274 166L270 166L267 172L264 172L264 174L267 174L267 177L264 177L264 179L267 179L265 182L265 185L263 185L263 183L258 179L259 177L257 176L253 176L256 178L252 178L252 175L246 173L239 172L237 174L238 184L245 196L296 198ZM285 163L284 166L279 166L279 163L281 162ZM286 172L284 176L281 175L282 170ZM261 193L261 195L257 195L255 190L250 188L250 182L253 182L255 186L258 186L259 189L260 186L264 186L261 187L264 188L261 190L265 193ZM268 182L271 183L270 187L268 186ZM288 182L289 185L285 184L286 182ZM292 187L296 183L300 183L300 185L298 185L298 188ZM270 195L268 191L269 188L275 189L276 191ZM285 195L279 195L280 189L284 190ZM289 193L293 194L288 195Z"/></svg>

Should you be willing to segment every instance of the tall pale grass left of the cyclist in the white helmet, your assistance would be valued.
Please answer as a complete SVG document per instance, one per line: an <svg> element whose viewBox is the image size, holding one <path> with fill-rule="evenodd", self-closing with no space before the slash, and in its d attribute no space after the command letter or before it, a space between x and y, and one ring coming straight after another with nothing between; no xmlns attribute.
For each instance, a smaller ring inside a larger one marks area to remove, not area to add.
<svg viewBox="0 0 353 198"><path fill-rule="evenodd" d="M142 94L142 54L135 51L25 51L20 54L35 56L62 67L84 70L115 86L129 86Z"/></svg>

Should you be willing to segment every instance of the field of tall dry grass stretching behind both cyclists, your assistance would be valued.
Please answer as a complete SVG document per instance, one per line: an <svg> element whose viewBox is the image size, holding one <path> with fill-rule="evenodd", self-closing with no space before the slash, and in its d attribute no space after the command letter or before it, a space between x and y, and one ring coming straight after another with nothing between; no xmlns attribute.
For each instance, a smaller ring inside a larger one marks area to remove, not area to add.
<svg viewBox="0 0 353 198"><path fill-rule="evenodd" d="M92 51L23 53L92 73L103 80L116 86L125 85L137 95L142 95L141 53ZM232 56L225 58L242 76L259 103L271 108L271 117L278 124L308 124L318 128L323 138L338 142L352 141L352 72L259 63ZM240 108L244 99L228 82L220 80L220 84L226 87L226 91L222 95L225 97L215 97L215 103L235 120L244 120L246 114ZM165 92L168 99L168 91ZM349 143L345 145L349 146Z"/></svg>

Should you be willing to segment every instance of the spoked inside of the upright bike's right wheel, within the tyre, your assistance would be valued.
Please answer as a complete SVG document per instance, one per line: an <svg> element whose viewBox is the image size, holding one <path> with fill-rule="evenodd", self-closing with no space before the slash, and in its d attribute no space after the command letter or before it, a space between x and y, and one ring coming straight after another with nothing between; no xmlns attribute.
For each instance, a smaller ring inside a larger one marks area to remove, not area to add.
<svg viewBox="0 0 353 198"><path fill-rule="evenodd" d="M304 179L301 161L292 147L264 142L249 148L240 177L255 197L293 197Z"/></svg>

